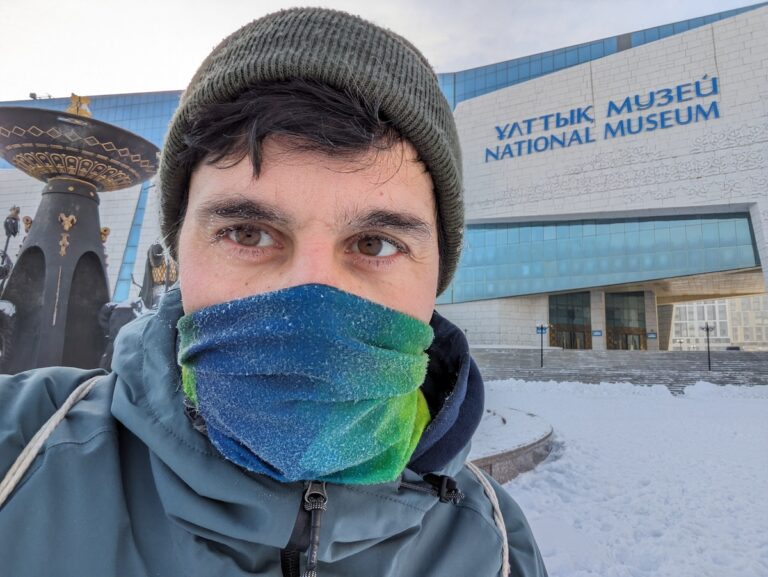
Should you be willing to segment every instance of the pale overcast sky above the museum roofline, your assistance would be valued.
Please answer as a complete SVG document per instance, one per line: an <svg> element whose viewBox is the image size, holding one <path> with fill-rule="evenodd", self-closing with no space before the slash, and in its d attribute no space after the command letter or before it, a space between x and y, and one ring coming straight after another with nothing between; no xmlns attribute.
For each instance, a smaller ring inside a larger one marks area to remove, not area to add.
<svg viewBox="0 0 768 577"><path fill-rule="evenodd" d="M455 72L756 0L2 0L0 101L183 89L225 36L280 8L357 13Z"/></svg>

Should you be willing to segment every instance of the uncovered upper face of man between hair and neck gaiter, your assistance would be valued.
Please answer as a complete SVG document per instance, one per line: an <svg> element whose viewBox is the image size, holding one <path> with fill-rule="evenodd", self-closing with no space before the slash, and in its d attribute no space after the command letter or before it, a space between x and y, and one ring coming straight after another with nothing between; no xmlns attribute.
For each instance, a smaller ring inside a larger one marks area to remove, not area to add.
<svg viewBox="0 0 768 577"><path fill-rule="evenodd" d="M405 143L342 160L263 145L192 173L179 235L184 311L319 283L429 322L439 271L432 180Z"/></svg>

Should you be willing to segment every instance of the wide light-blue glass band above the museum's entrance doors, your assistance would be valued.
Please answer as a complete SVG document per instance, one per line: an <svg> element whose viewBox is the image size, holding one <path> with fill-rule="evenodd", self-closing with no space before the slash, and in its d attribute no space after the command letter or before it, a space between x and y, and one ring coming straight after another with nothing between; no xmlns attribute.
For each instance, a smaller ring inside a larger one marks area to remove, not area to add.
<svg viewBox="0 0 768 577"><path fill-rule="evenodd" d="M759 265L747 213L470 225L438 304Z"/></svg>

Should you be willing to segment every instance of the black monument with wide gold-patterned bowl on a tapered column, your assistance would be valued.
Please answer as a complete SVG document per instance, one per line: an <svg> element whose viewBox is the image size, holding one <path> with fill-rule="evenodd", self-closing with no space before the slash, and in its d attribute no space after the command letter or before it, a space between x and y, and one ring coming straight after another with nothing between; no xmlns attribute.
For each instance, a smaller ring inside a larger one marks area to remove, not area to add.
<svg viewBox="0 0 768 577"><path fill-rule="evenodd" d="M99 193L151 178L157 153L147 140L87 116L0 107L0 156L46 183L2 293L16 309L3 372L99 365L98 315L109 300Z"/></svg>

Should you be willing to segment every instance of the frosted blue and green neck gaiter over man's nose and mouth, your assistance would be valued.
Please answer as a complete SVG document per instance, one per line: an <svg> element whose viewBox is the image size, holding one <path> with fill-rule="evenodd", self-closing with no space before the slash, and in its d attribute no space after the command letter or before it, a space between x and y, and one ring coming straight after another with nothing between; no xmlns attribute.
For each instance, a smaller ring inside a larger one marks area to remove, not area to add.
<svg viewBox="0 0 768 577"><path fill-rule="evenodd" d="M250 471L392 481L429 422L432 328L355 295L302 285L198 310L178 330L184 393Z"/></svg>

